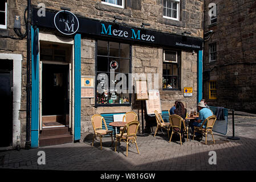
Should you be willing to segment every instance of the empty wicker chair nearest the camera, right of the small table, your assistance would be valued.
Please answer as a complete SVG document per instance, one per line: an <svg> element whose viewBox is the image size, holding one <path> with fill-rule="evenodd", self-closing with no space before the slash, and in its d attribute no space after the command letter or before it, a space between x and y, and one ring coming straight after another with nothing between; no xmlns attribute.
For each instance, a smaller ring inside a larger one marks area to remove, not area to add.
<svg viewBox="0 0 256 182"><path fill-rule="evenodd" d="M129 123L127 123L122 131L122 133L120 134L116 134L116 145L117 145L117 140L120 142L126 142L126 156L128 156L128 146L129 146L129 142L135 143L136 144L136 148L137 148L137 152L138 154L140 154L138 146L137 146L137 142L136 142L136 134L137 131L139 129L140 123L139 121L131 121ZM127 131L125 133L125 131ZM115 152L116 152L116 146L115 146Z"/></svg>

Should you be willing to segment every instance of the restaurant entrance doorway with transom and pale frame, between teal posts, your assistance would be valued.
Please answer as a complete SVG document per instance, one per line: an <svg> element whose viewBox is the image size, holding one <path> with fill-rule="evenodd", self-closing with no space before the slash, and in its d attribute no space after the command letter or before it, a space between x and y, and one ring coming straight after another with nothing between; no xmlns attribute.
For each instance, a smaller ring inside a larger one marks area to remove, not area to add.
<svg viewBox="0 0 256 182"><path fill-rule="evenodd" d="M40 42L41 129L71 125L72 46Z"/></svg>

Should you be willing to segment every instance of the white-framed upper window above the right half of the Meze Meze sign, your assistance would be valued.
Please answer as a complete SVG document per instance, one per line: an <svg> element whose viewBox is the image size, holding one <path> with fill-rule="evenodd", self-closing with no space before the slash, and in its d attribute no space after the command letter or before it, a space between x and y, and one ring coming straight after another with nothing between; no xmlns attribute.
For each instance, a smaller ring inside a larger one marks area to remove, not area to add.
<svg viewBox="0 0 256 182"><path fill-rule="evenodd" d="M179 20L180 0L164 0L163 3L164 18Z"/></svg>

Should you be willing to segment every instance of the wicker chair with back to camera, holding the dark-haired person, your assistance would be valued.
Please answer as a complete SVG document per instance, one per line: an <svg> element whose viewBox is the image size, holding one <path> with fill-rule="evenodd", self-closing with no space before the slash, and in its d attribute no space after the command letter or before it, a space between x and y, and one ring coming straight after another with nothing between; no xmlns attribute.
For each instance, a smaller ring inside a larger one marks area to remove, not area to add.
<svg viewBox="0 0 256 182"><path fill-rule="evenodd" d="M174 133L178 133L180 135L180 144L182 145L182 142L181 142L181 125L183 124L184 126L184 132L186 132L187 134L187 140L188 140L188 129L187 127L185 126L185 121L182 117L180 117L179 115L176 115L176 114L173 114L173 115L170 115L169 117L169 121L171 123L171 127L172 127L172 135ZM170 140L172 140L172 135L170 135ZM169 140L169 142L170 142Z"/></svg>

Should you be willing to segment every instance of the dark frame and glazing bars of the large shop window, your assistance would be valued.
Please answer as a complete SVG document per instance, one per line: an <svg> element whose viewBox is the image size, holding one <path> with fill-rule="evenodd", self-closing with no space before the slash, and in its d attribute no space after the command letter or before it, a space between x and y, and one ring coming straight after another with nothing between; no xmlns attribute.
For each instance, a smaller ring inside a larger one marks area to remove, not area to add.
<svg viewBox="0 0 256 182"><path fill-rule="evenodd" d="M97 42L98 41L108 42L108 47L107 47L108 56L97 55ZM95 40L95 107L131 106L131 104L132 104L132 93L128 93L129 103L125 103L125 104L97 104L97 75L99 75L100 73L106 73L106 72L103 72L103 71L99 71L99 73L98 73L98 71L97 71L97 57L98 56L108 57L108 62L109 62L109 57L110 58L113 57L113 56L109 56L109 42L119 43L119 48L120 48L120 44L123 43L123 42L118 42L118 41L113 41L113 40L103 40L103 39L96 39ZM131 74L132 73L132 44L129 44L129 43L123 43L123 44L128 44L129 45L129 73L124 73L124 74ZM119 54L120 54L120 49L119 49ZM123 57L119 57L119 58L123 59ZM128 58L126 58L126 59L128 59ZM109 73L110 73L110 71L109 71ZM129 82L129 80L127 80L127 81L128 81L127 90L129 90L129 86L131 86L131 83ZM108 82L110 82L110 79L108 80Z"/></svg>

